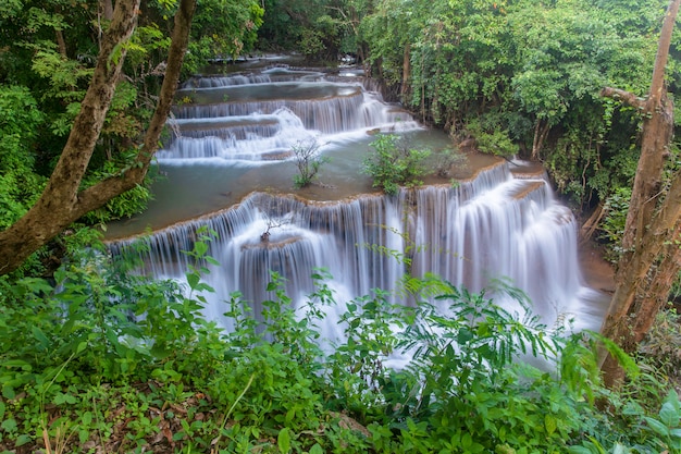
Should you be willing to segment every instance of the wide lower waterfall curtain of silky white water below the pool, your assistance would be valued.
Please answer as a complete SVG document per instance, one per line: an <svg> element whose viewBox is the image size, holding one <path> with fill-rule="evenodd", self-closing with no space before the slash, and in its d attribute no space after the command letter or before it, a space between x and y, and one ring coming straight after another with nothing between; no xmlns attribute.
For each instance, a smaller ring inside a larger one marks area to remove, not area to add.
<svg viewBox="0 0 681 454"><path fill-rule="evenodd" d="M506 163L456 187L404 189L396 197L320 204L255 193L238 206L156 232L145 258L149 270L182 279L188 258L181 250L191 248L201 226L218 233L209 254L222 266L206 277L215 289L207 314L216 319L221 302L236 291L257 314L268 298L270 271L286 280L295 304L313 291L317 268L331 272L332 287L345 298L392 290L406 272L432 272L475 292L509 279L548 324L579 316L589 293L572 213L543 180L517 180ZM404 258L411 258L410 267Z"/></svg>

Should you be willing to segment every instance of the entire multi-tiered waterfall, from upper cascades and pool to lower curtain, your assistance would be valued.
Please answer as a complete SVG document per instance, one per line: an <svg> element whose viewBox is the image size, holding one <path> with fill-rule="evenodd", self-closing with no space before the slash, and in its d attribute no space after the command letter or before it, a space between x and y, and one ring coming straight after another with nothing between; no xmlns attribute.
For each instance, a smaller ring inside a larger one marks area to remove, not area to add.
<svg viewBox="0 0 681 454"><path fill-rule="evenodd" d="M406 272L432 272L473 291L508 279L546 323L570 316L578 329L599 324L602 298L582 282L574 218L541 175L516 177L508 162L487 160L456 184L431 182L438 184L393 197L372 192L360 172L368 132L436 147L447 139L354 78L280 68L191 79L177 99L172 138L158 154L169 177L151 207L176 219L164 217L171 225L156 229L147 262L156 275L182 279L182 250L199 228L215 231L210 255L222 266L206 277L215 289L210 318L222 320L220 302L236 291L257 311L270 271L301 302L315 268L325 268L340 303L394 289ZM292 148L311 137L333 159L324 185L295 192ZM191 187L177 187L186 174ZM187 193L196 203L183 199ZM134 225L141 230L150 219Z"/></svg>

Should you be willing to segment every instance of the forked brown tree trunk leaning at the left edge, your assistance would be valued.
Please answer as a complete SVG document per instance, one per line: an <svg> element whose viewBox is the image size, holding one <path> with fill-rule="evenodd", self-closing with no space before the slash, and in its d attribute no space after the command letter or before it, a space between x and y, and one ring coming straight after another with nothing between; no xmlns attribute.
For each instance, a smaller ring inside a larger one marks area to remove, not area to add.
<svg viewBox="0 0 681 454"><path fill-rule="evenodd" d="M30 254L72 222L141 183L145 177L175 94L196 0L182 0L175 15L165 78L135 164L117 176L79 191L119 81L125 57L122 44L136 26L139 3L140 0L116 1L81 112L45 191L24 217L0 232L0 274L18 268Z"/></svg>

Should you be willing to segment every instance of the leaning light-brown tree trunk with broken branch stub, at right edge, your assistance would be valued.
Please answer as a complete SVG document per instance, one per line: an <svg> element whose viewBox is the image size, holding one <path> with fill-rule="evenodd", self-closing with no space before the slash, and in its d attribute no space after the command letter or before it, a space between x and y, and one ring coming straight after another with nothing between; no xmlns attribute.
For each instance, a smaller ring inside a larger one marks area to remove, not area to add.
<svg viewBox="0 0 681 454"><path fill-rule="evenodd" d="M616 88L602 91L603 96L621 99L643 114L641 157L622 237L623 253L615 275L615 294L602 327L602 333L627 353L635 351L652 326L660 298L665 299L669 293L669 274L676 274L679 269L678 251L666 246L678 240L674 235L679 234L681 217L681 171L668 191L663 188L663 171L673 133L673 105L665 89L665 68L680 2L671 0L667 9L647 98ZM660 257L663 253L668 254L667 258ZM669 268L651 273L658 263ZM606 385L617 386L624 378L622 368L607 353L602 359Z"/></svg>

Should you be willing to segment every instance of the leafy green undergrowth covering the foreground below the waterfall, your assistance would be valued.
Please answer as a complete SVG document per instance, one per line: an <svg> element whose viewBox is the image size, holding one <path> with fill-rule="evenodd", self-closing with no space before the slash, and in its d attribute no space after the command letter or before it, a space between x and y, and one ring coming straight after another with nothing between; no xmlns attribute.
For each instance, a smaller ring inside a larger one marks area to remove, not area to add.
<svg viewBox="0 0 681 454"><path fill-rule="evenodd" d="M382 290L335 302L319 270L295 309L272 273L258 317L238 293L224 302L225 332L201 315L209 241L183 285L102 248L51 282L3 278L0 452L681 452L664 380L624 358L629 392L604 391L593 342L547 331L508 285L426 275L407 283L416 305ZM345 334L330 341L336 306Z"/></svg>

